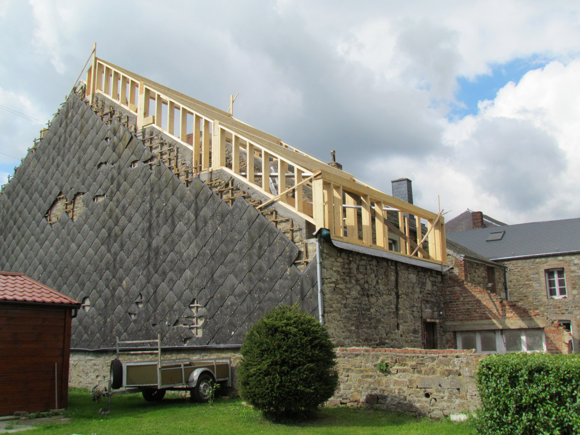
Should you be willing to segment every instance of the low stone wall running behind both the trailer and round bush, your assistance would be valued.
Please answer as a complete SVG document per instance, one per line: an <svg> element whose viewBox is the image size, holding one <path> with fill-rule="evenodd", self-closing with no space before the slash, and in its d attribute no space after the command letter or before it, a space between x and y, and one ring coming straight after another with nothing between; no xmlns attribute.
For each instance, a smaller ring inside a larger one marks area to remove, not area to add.
<svg viewBox="0 0 580 435"><path fill-rule="evenodd" d="M241 354L235 349L164 351L164 358L231 358L233 390L235 367ZM473 350L337 348L339 386L328 405L380 407L439 418L473 412L480 405L475 372L485 355ZM107 386L114 351L71 351L71 387ZM124 355L123 361L151 360L152 356ZM377 368L385 362L385 374Z"/></svg>

